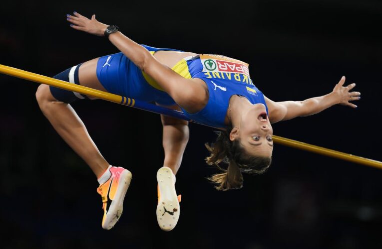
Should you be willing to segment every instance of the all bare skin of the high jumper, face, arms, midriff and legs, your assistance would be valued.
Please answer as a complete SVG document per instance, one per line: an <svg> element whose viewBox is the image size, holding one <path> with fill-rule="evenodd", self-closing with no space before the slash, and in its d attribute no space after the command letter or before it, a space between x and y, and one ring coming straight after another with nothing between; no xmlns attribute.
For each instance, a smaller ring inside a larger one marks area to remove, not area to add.
<svg viewBox="0 0 382 249"><path fill-rule="evenodd" d="M98 36L103 36L108 26L96 20L95 15L88 19L79 13L74 13L68 15L67 20L72 23L72 28ZM177 103L167 108L180 110L179 107L182 107L189 113L196 113L205 107L209 99L206 83L198 78L185 79L171 70L176 62L195 53L158 51L151 55L145 48L119 31L110 34L108 38ZM96 77L97 60L98 58L82 64L79 68L79 80L83 86L106 91ZM345 77L341 78L331 93L305 101L274 102L265 97L269 110L269 117L265 119L259 118L259 115L265 113L264 105L252 105L245 97L234 95L230 98L230 108L227 110L225 120L226 124L233 127L230 139L240 138L241 144L250 154L271 156L273 150L271 123L313 115L336 104L356 108L350 101L359 100L361 94L351 92L355 84L344 87L344 83ZM38 88L36 98L43 114L56 131L99 177L109 163L103 158L71 106L55 100L45 85ZM161 120L165 153L163 165L170 167L176 173L189 138L188 123L163 115Z"/></svg>

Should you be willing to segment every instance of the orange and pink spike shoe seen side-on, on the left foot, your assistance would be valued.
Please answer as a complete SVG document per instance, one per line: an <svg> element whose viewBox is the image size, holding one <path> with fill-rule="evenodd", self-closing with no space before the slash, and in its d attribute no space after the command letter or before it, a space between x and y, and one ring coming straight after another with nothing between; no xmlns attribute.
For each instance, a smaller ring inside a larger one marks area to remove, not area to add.
<svg viewBox="0 0 382 249"><path fill-rule="evenodd" d="M123 200L132 178L131 172L122 167L110 167L111 176L97 188L102 197L102 228L110 230L119 220L123 210Z"/></svg>

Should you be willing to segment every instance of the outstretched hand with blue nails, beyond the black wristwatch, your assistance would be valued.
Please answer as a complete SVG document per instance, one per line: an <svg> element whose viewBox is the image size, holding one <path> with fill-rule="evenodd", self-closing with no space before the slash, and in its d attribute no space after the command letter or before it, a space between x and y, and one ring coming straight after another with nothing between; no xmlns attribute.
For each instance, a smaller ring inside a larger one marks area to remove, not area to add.
<svg viewBox="0 0 382 249"><path fill-rule="evenodd" d="M95 19L95 14L91 16L91 19L73 12L74 15L67 14L66 20L71 22L70 26L74 29L94 34L98 36L104 36L105 29L109 26Z"/></svg>

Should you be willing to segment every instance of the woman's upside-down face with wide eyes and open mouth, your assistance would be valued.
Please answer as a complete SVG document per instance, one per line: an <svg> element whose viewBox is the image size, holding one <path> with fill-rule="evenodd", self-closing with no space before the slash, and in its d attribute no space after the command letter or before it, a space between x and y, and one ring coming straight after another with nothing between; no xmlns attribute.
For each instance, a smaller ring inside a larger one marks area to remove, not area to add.
<svg viewBox="0 0 382 249"><path fill-rule="evenodd" d="M249 154L270 157L273 151L273 129L263 104L255 104L242 115L240 127L231 131L231 140L240 142Z"/></svg>

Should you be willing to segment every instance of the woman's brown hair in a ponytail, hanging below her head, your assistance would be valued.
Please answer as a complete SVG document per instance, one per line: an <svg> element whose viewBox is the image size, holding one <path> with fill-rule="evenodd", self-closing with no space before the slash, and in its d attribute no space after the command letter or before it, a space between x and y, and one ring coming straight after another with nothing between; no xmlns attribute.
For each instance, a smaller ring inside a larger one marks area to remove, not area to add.
<svg viewBox="0 0 382 249"><path fill-rule="evenodd" d="M217 185L217 190L239 189L243 187L243 173L262 174L271 165L271 157L248 155L242 145L240 139L231 141L229 134L231 129L227 131L215 131L218 135L215 143L205 143L206 148L211 153L206 158L208 165L215 165L223 173L214 174L208 179ZM228 164L227 169L219 166L219 163Z"/></svg>

